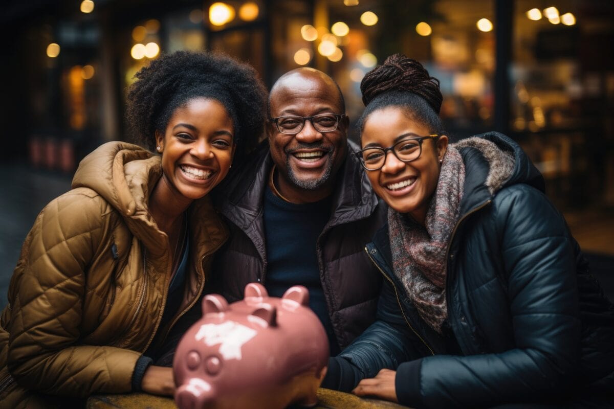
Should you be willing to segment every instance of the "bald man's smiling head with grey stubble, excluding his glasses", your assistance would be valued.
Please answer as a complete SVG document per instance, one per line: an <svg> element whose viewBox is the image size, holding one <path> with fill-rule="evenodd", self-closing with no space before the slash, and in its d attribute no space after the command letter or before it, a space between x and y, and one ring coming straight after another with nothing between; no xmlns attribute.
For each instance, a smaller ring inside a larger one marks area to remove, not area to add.
<svg viewBox="0 0 614 409"><path fill-rule="evenodd" d="M323 75L315 70L298 71L281 78L271 91L271 117L343 114L339 90ZM271 158L279 171L278 189L284 197L292 202L311 202L332 192L335 174L348 151L347 129L347 117L331 132L319 132L311 121L305 121L295 135L282 134L276 124L268 123Z"/></svg>

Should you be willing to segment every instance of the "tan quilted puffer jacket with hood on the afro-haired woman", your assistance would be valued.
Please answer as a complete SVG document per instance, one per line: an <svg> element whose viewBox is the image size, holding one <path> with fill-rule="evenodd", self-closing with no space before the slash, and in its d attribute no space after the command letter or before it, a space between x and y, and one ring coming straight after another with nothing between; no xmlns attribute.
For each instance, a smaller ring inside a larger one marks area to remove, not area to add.
<svg viewBox="0 0 614 409"><path fill-rule="evenodd" d="M0 407L25 399L25 389L130 391L134 365L154 335L168 333L195 304L227 229L208 197L189 208L184 299L159 329L171 259L147 200L161 175L159 156L106 143L80 163L72 190L36 218L0 321Z"/></svg>

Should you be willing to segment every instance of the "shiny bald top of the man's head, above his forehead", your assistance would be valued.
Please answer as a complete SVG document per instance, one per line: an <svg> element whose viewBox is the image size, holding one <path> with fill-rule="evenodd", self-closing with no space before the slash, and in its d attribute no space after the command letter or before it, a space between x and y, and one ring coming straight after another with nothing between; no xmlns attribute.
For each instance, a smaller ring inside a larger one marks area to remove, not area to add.
<svg viewBox="0 0 614 409"><path fill-rule="evenodd" d="M333 80L322 71L319 71L310 67L300 67L286 72L286 74L279 77L279 79L271 87L269 94L267 110L269 116L271 116L271 101L277 100L280 90L305 90L306 88L313 88L314 86L324 86L327 92L335 97L335 101L338 103L338 109L340 112L345 112L345 100L343 99L343 93L341 88ZM281 101L278 101L281 102Z"/></svg>

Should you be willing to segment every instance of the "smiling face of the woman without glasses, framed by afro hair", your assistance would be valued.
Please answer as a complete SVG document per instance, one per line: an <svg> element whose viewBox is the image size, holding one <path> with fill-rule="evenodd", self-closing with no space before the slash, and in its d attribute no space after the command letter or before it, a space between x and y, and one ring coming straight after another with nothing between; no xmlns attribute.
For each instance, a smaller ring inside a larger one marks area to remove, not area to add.
<svg viewBox="0 0 614 409"><path fill-rule="evenodd" d="M220 102L195 98L177 108L156 142L162 151L162 183L177 199L192 201L228 174L235 128Z"/></svg>

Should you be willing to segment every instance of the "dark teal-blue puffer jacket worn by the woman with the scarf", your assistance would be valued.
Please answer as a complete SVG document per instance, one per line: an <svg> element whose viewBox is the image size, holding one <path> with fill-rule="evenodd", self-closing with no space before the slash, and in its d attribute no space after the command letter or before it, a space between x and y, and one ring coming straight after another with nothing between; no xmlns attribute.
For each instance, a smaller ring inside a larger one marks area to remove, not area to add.
<svg viewBox="0 0 614 409"><path fill-rule="evenodd" d="M449 337L461 352L452 355L449 339L419 318L392 272L384 228L365 248L387 283L378 321L331 359L324 386L349 390L380 369L397 369L401 403L443 408L530 402L612 381L612 305L521 148L495 132L480 137L513 153L515 167L491 194L488 161L475 148L460 149L466 178L446 299Z"/></svg>

